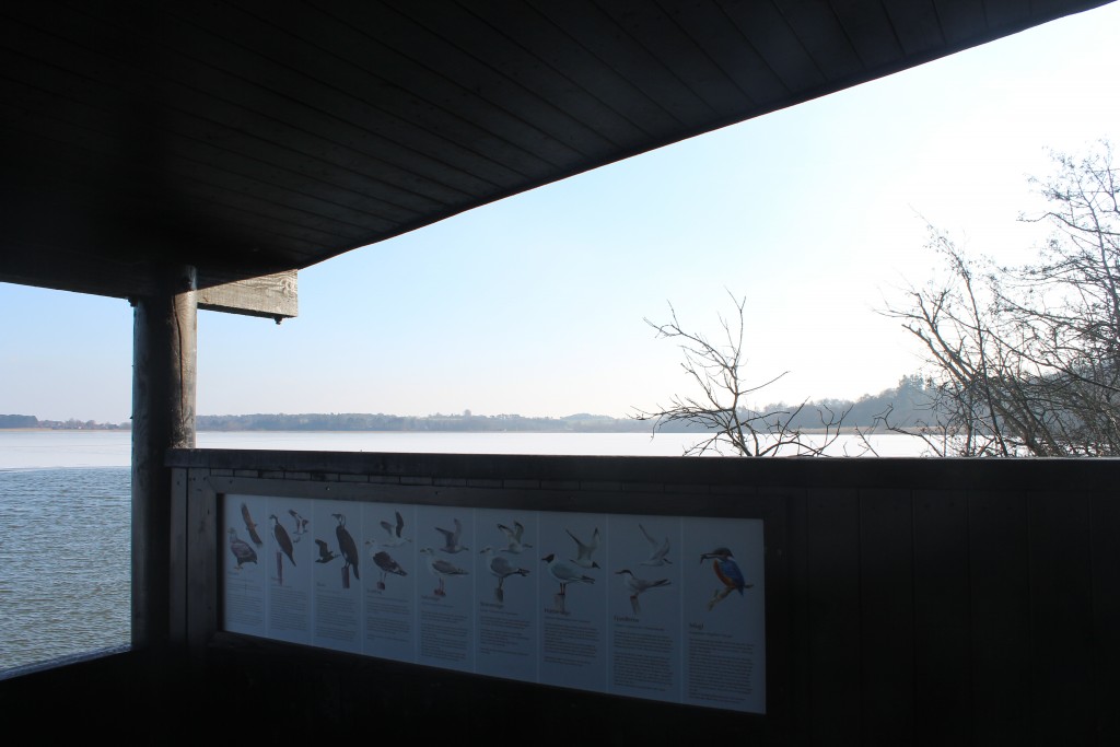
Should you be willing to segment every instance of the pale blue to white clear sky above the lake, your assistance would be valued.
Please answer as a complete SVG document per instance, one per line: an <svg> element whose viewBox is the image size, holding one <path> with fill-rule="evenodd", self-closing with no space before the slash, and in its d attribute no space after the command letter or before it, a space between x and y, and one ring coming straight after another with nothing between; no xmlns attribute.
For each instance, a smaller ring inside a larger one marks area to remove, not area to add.
<svg viewBox="0 0 1120 747"><path fill-rule="evenodd" d="M625 418L696 393L675 343L746 300L756 404L921 368L895 319L936 260L1029 261L1029 176L1120 144L1120 3L516 195L299 273L281 325L198 314L198 414ZM0 283L0 413L124 422L132 308Z"/></svg>

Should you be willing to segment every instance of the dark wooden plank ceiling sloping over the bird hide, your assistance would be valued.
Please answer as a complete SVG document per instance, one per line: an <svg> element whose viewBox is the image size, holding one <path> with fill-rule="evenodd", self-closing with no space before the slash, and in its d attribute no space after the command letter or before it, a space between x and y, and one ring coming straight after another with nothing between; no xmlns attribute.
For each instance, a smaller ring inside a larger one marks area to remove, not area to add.
<svg viewBox="0 0 1120 747"><path fill-rule="evenodd" d="M1100 4L9 0L0 281L299 270Z"/></svg>

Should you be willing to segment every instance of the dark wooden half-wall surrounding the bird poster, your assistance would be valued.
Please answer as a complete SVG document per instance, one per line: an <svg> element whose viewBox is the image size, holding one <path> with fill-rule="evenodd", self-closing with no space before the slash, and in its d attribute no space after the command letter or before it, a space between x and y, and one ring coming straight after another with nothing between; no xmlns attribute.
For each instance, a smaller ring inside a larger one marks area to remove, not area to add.
<svg viewBox="0 0 1120 747"><path fill-rule="evenodd" d="M589 744L1120 744L1113 460L184 450L170 464L171 637L181 659L166 669L167 687L183 728L199 734L234 718L278 738L459 729L534 745L569 744L572 730ZM388 487L438 493L438 503L478 493L547 510L763 516L768 712L526 685L221 632L216 502L223 486L254 485L271 495L361 499ZM12 702L10 684L0 682L0 703Z"/></svg>

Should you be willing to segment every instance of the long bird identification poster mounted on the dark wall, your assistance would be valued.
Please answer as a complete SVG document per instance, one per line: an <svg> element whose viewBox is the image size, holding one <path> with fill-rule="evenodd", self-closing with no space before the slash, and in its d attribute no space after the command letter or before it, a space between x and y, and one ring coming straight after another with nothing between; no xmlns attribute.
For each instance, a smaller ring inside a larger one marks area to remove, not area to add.
<svg viewBox="0 0 1120 747"><path fill-rule="evenodd" d="M760 519L226 495L233 633L766 712Z"/></svg>

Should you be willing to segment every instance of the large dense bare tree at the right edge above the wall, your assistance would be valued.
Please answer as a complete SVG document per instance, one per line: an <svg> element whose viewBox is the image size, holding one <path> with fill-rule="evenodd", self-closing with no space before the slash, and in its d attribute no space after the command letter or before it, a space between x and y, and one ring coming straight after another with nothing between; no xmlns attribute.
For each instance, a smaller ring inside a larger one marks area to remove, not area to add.
<svg viewBox="0 0 1120 747"><path fill-rule="evenodd" d="M1120 209L1110 146L1054 155L1033 180L1054 232L1036 261L970 259L931 227L946 276L885 314L923 344L930 419L906 426L954 456L1120 454Z"/></svg>

